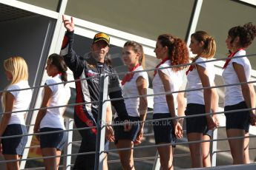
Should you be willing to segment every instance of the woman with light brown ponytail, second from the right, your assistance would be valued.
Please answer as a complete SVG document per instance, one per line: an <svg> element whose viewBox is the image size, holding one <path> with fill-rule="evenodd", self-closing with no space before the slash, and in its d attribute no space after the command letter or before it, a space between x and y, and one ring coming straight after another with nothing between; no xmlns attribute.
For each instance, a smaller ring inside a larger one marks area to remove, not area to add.
<svg viewBox="0 0 256 170"><path fill-rule="evenodd" d="M214 64L209 61L214 57L216 44L205 31L197 31L191 35L189 45L191 52L197 56L193 59L193 65L186 72L188 78L187 89L199 89L214 85ZM200 63L203 62L203 63ZM203 89L190 91L187 95L186 115L199 115L210 112L217 112L218 95L216 89ZM186 118L188 141L210 140L211 129L218 125L217 115L198 116ZM192 167L209 167L210 143L189 144Z"/></svg>

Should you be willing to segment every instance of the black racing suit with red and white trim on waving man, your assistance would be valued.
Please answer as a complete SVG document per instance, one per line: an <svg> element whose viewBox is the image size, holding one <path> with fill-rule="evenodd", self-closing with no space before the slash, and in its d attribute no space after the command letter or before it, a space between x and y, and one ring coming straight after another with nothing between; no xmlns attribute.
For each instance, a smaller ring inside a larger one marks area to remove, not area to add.
<svg viewBox="0 0 256 170"><path fill-rule="evenodd" d="M90 78L84 81L76 81L76 103L84 103L74 108L74 121L77 128L96 126L99 103L86 103L99 101L99 74L115 73L113 67L107 64L98 63L91 55L82 58L76 55L73 50L73 32L67 32L62 44L61 54L64 56L65 63L73 72L75 80ZM122 98L122 89L119 86L117 75L109 76L108 84L109 98ZM116 112L122 120L128 120L128 113L125 108L124 100L111 101ZM95 152L96 150L96 129L79 130L82 136L82 143L79 153ZM94 169L95 154L85 154L76 157L73 169Z"/></svg>

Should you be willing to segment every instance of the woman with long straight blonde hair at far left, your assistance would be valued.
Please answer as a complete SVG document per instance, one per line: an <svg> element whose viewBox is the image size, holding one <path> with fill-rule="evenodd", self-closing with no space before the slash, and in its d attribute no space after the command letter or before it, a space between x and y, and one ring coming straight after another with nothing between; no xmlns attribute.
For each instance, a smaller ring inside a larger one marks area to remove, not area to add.
<svg viewBox="0 0 256 170"><path fill-rule="evenodd" d="M4 61L5 75L11 81L10 92L1 95L4 115L0 123L0 137L27 134L24 115L30 106L32 90L28 85L27 64L24 58L15 56ZM26 89L26 90L22 90ZM15 90L15 91L11 91ZM13 112L13 113L10 113ZM5 160L19 160L27 143L27 136L0 139L1 152ZM19 169L19 162L7 163L7 169Z"/></svg>

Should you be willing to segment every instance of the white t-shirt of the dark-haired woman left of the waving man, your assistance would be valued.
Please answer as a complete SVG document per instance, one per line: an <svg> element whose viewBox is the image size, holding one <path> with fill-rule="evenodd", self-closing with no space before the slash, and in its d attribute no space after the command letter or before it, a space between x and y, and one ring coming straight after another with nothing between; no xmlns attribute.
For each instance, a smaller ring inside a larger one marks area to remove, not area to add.
<svg viewBox="0 0 256 170"><path fill-rule="evenodd" d="M48 78L45 84L50 85L61 82L62 80L60 78L60 75L56 75L53 78ZM53 85L49 86L49 88L52 91L49 107L66 105L68 103L70 99L70 87L68 86L68 84L65 84L65 86L64 84ZM42 94L44 94L44 92ZM40 128L50 127L65 129L64 119L62 117L64 111L65 107L47 109L45 117L42 118L42 121L40 123Z"/></svg>

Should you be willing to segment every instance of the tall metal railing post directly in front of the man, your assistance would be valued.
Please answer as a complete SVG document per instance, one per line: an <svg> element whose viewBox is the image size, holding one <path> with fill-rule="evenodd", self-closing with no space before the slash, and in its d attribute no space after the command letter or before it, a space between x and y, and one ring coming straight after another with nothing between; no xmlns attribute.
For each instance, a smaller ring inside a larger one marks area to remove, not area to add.
<svg viewBox="0 0 256 170"><path fill-rule="evenodd" d="M97 138L96 138L96 153L95 153L95 170L103 169L104 146L105 146L105 118L108 99L108 76L101 74L99 78L99 113L97 120Z"/></svg>

